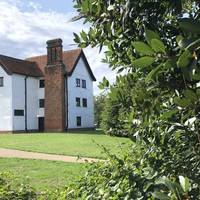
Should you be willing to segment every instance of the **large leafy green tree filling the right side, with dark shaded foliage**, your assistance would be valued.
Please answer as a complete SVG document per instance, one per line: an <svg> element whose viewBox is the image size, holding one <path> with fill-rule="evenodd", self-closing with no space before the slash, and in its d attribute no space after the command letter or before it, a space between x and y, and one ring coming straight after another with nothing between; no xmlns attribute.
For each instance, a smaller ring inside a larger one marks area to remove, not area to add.
<svg viewBox="0 0 200 200"><path fill-rule="evenodd" d="M79 18L90 24L75 41L81 47L105 46L104 61L119 73L128 71L109 97L120 102L114 127L128 131L140 152L95 168L79 196L200 199L199 1L75 2Z"/></svg>

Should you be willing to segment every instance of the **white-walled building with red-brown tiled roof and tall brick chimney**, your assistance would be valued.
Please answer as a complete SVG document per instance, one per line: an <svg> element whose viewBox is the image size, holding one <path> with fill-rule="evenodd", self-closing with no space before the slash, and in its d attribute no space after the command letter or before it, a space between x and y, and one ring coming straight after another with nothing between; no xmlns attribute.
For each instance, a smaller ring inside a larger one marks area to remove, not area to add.
<svg viewBox="0 0 200 200"><path fill-rule="evenodd" d="M47 42L47 55L0 55L0 132L94 127L95 77L81 49Z"/></svg>

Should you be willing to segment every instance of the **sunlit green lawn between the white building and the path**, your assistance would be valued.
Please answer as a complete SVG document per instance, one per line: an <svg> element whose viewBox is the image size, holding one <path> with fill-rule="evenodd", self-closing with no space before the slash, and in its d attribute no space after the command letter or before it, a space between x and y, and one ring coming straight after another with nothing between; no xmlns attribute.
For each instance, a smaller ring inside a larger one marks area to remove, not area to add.
<svg viewBox="0 0 200 200"><path fill-rule="evenodd" d="M99 134L101 133L101 134ZM131 144L128 138L111 137L99 131L82 133L0 134L0 147L51 154L105 158L99 145L113 153Z"/></svg>

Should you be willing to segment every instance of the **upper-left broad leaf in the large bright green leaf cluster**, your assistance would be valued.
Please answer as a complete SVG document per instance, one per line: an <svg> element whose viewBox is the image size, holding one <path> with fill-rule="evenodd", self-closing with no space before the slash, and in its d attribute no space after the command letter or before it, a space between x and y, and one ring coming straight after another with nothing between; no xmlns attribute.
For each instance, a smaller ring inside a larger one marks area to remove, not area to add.
<svg viewBox="0 0 200 200"><path fill-rule="evenodd" d="M144 42L133 42L133 46L136 51L142 55L151 56L154 54L153 49Z"/></svg>

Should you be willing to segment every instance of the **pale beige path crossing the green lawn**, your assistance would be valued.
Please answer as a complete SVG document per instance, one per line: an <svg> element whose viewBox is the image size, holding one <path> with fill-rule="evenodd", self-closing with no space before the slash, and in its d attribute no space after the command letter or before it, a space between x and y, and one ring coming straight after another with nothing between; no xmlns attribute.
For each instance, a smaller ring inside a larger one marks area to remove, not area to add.
<svg viewBox="0 0 200 200"><path fill-rule="evenodd" d="M99 159L85 158L77 156L63 156L46 153L27 152L13 149L0 148L0 157L2 158L26 158L26 159L39 159L39 160L52 160L63 161L71 163L85 163L85 162L98 162Z"/></svg>

